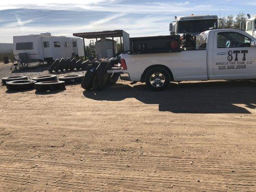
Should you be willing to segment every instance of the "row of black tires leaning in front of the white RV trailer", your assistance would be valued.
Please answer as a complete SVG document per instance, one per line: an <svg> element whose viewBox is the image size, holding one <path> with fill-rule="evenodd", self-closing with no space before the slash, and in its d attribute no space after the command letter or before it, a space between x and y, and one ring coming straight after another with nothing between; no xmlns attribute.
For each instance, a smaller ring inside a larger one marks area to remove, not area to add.
<svg viewBox="0 0 256 192"><path fill-rule="evenodd" d="M83 60L76 60L74 59L64 59L62 58L61 60L55 60L51 66L49 67L48 71L49 72L62 72L62 71L73 71L74 69L76 70L85 70L88 66L90 65L90 61L86 60L83 62Z"/></svg>

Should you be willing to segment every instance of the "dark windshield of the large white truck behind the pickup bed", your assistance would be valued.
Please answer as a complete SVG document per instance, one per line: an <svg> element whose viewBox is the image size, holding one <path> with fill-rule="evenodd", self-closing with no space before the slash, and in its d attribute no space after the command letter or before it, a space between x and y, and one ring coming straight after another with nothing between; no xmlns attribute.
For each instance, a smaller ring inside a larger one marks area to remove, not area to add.
<svg viewBox="0 0 256 192"><path fill-rule="evenodd" d="M178 22L178 33L196 33L209 30L214 27L214 24L218 26L217 19L204 19L204 20L189 20Z"/></svg>

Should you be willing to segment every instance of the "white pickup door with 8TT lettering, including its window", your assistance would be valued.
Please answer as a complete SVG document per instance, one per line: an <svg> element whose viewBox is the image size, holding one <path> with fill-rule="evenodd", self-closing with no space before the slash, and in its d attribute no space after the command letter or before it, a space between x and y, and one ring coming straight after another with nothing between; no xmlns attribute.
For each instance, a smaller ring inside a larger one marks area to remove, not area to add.
<svg viewBox="0 0 256 192"><path fill-rule="evenodd" d="M234 31L214 33L213 72L215 77L256 77L256 47L251 39Z"/></svg>

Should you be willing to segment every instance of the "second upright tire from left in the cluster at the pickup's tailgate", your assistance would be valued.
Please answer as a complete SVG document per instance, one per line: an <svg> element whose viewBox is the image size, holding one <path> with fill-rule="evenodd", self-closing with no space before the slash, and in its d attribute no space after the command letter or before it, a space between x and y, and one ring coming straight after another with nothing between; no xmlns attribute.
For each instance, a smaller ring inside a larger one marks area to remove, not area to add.
<svg viewBox="0 0 256 192"><path fill-rule="evenodd" d="M110 73L107 72L112 66L110 60L103 60L98 67L98 70L95 75L95 80L93 82L93 90L102 90L105 85L108 83Z"/></svg>

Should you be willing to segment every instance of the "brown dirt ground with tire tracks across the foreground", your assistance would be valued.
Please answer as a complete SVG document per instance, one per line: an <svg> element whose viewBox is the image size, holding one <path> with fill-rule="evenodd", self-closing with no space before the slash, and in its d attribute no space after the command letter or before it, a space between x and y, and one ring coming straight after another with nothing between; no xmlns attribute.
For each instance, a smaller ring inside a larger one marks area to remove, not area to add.
<svg viewBox="0 0 256 192"><path fill-rule="evenodd" d="M37 191L255 192L256 82L1 86L0 192Z"/></svg>

